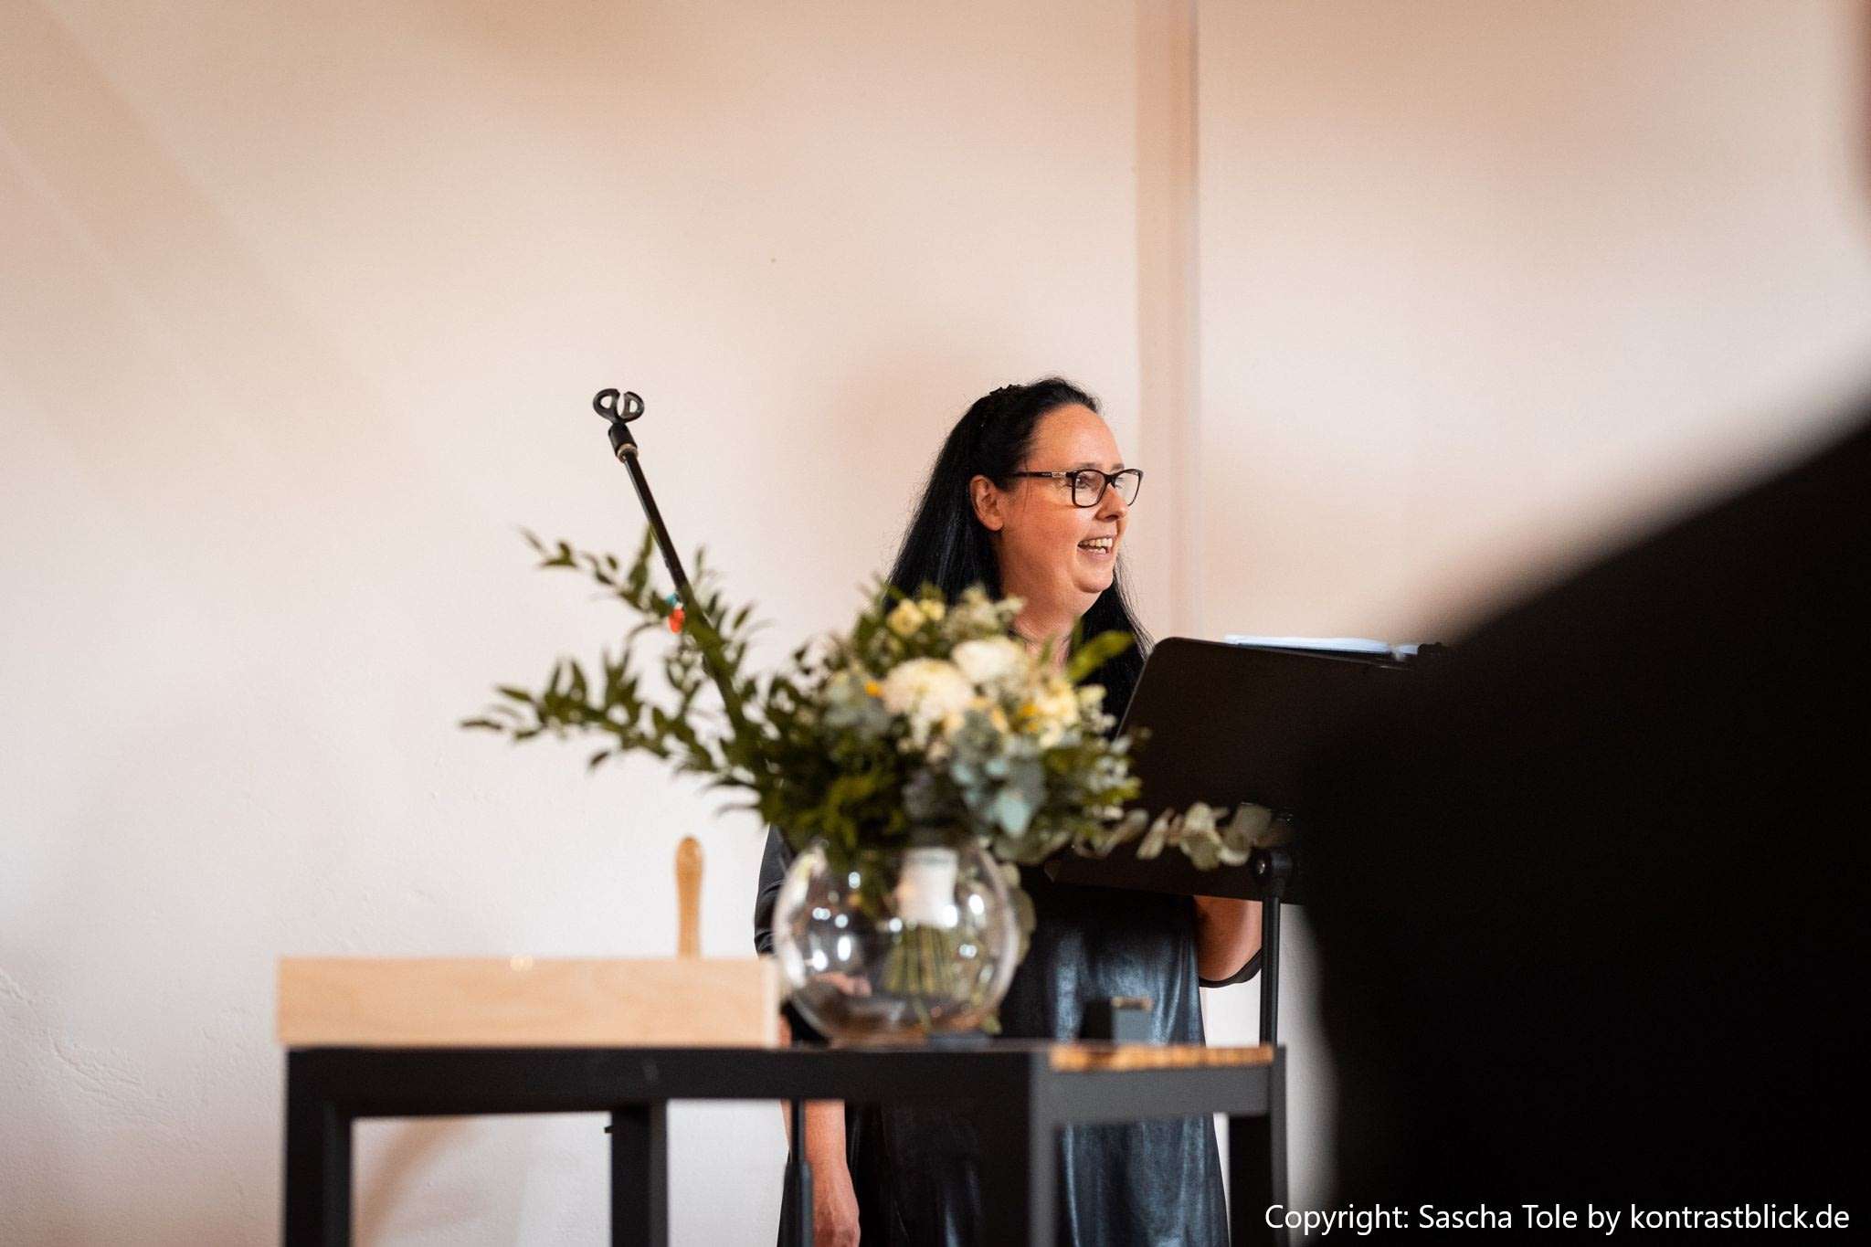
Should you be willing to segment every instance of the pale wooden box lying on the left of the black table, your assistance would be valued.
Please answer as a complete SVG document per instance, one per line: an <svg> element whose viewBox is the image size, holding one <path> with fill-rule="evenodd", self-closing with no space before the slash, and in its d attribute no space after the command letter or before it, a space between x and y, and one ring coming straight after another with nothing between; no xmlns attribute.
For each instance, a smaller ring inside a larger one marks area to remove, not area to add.
<svg viewBox="0 0 1871 1247"><path fill-rule="evenodd" d="M776 1047L771 959L281 957L286 1047Z"/></svg>

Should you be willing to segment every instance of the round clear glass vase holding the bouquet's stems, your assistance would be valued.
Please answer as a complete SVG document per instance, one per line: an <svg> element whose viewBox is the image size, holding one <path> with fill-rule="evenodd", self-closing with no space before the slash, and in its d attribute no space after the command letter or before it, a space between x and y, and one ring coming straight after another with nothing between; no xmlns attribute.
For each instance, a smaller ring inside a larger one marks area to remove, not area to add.
<svg viewBox="0 0 1871 1247"><path fill-rule="evenodd" d="M773 910L793 1008L840 1043L980 1030L1020 963L999 864L973 836L793 858Z"/></svg>

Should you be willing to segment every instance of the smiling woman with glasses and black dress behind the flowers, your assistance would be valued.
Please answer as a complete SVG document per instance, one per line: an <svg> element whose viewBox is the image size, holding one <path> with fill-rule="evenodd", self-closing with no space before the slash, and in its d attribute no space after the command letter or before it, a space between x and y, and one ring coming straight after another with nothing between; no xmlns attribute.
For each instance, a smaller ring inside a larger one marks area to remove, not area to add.
<svg viewBox="0 0 1871 1247"><path fill-rule="evenodd" d="M1124 467L1096 400L1052 378L1005 385L949 432L891 583L969 585L1023 602L1018 638L1059 662L1074 626L1123 630L1138 645L1091 679L1119 720L1143 669L1145 638L1117 563L1143 473ZM790 854L769 832L754 942L771 952L773 901ZM1153 1043L1201 1043L1197 983L1252 976L1259 905L1053 884L1023 869L1037 927L1001 1004L1001 1034L1074 1039L1085 1004L1149 996ZM814 1103L805 1157L819 1247L979 1241L973 1125L962 1109ZM1222 1247L1227 1215L1209 1118L1074 1125L1059 1142L1059 1243L1072 1247Z"/></svg>

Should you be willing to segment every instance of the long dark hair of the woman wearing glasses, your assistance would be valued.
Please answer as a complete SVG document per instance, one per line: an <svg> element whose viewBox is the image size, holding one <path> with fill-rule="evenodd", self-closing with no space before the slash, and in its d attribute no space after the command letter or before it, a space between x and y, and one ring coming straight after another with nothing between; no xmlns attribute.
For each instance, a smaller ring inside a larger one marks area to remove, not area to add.
<svg viewBox="0 0 1871 1247"><path fill-rule="evenodd" d="M1040 417L1055 408L1081 404L1098 409L1098 400L1061 378L1046 378L1031 385L1003 385L977 398L967 413L949 430L928 488L909 520L904 544L891 568L891 583L915 593L936 585L954 602L969 585L984 585L992 596L1001 596L1001 563L986 525L975 518L967 482L986 477L999 488L1012 488L1033 447L1033 430ZM1123 563L1111 574L1111 585L1098 595L1083 617L1083 636L1100 632L1128 632L1138 643L1108 660L1091 679L1104 684L1104 707L1123 718L1130 692L1143 671L1149 638L1138 626L1124 591Z"/></svg>

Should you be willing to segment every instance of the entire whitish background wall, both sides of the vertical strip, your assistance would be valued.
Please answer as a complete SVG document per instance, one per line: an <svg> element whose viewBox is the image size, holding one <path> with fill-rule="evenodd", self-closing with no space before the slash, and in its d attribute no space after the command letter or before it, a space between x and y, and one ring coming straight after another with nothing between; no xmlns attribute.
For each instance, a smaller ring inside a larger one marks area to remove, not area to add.
<svg viewBox="0 0 1871 1247"><path fill-rule="evenodd" d="M0 6L0 1241L271 1238L281 953L668 952L685 832L747 946L758 828L453 727L608 638L513 533L634 540L601 385L773 652L1050 370L1188 466L1147 623L1401 636L1811 436L1871 337L1843 4L1179 13ZM602 1241L602 1146L374 1124L359 1219ZM765 1241L780 1152L679 1111L677 1241Z"/></svg>

